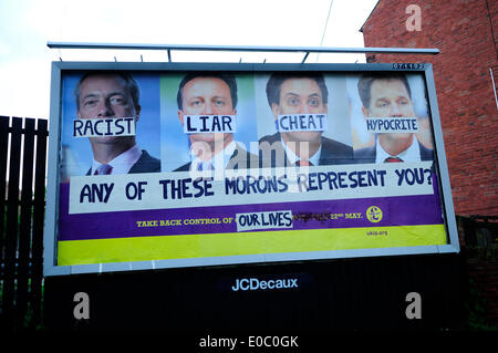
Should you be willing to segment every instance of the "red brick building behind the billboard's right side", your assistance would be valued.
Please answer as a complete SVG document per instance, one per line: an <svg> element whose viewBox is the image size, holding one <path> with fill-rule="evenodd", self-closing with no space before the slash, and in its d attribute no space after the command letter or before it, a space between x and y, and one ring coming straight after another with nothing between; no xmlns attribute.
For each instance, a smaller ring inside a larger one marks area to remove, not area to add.
<svg viewBox="0 0 498 353"><path fill-rule="evenodd" d="M419 31L409 25L411 4L421 10ZM433 63L455 212L498 216L498 1L380 0L361 31L365 46L439 49L367 61Z"/></svg>

